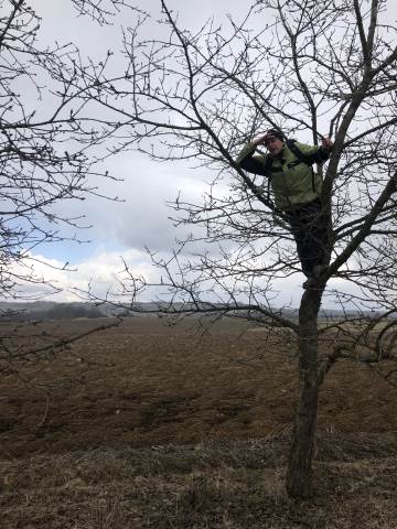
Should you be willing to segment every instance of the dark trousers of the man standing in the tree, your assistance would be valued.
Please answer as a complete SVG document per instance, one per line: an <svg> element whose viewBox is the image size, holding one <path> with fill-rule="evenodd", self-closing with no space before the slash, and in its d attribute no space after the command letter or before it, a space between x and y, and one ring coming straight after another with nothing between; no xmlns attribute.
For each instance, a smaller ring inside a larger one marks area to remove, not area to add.
<svg viewBox="0 0 397 529"><path fill-rule="evenodd" d="M313 276L313 269L323 263L328 231L325 217L320 198L302 204L286 212L291 226L291 233L297 242L302 272L308 278Z"/></svg>

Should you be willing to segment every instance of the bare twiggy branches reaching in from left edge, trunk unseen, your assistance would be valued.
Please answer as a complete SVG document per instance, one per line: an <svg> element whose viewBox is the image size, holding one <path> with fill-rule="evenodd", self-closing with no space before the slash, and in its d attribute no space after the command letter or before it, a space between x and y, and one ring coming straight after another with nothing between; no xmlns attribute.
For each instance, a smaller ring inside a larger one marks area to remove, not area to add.
<svg viewBox="0 0 397 529"><path fill-rule="evenodd" d="M128 8L124 0L71 4L76 15L100 24ZM41 19L30 2L2 0L0 6L0 295L33 300L44 288L58 291L35 272L34 250L44 242L77 241L85 227L83 217L60 213L65 210L60 204L99 195L98 181L112 177L100 166L100 148L115 123L98 118L95 101L82 101L76 88L84 82L82 72L100 71L104 62L85 58L73 44L43 44ZM1 373L76 339L51 336L35 325L37 345L22 327L2 326Z"/></svg>

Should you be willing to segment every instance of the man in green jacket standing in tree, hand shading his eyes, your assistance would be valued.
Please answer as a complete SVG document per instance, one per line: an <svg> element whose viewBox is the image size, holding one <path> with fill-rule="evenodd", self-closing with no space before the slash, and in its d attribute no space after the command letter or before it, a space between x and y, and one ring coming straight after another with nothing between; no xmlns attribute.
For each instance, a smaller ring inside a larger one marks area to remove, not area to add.
<svg viewBox="0 0 397 529"><path fill-rule="evenodd" d="M260 144L268 154L254 155ZM325 162L332 145L330 138L323 138L321 147L313 147L288 140L281 131L270 129L246 144L236 160L249 173L270 179L276 209L290 224L297 242L302 271L308 278L303 283L305 289L321 274L328 241L320 198L322 181L312 165Z"/></svg>

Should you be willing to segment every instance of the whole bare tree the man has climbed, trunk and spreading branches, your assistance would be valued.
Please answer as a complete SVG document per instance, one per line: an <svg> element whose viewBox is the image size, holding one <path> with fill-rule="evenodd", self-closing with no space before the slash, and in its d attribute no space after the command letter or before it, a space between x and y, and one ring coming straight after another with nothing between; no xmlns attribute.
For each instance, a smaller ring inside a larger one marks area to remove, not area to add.
<svg viewBox="0 0 397 529"><path fill-rule="evenodd" d="M394 354L397 25L389 8L387 0L257 0L243 20L229 18L226 28L210 21L193 33L161 0L158 39L149 14L125 30L120 75L109 66L77 79L85 79L83 104L95 99L115 112L117 150L214 172L203 203L175 202L178 222L198 235L170 259L152 253L162 279L151 287L171 296L169 312L239 314L296 334L300 395L287 478L293 497L312 492L318 397L329 369L363 347L377 359L386 345ZM319 168L326 267L303 291L298 321L275 310L278 281L300 271L290 228L261 179L235 162L269 127L314 145L334 138L328 166ZM206 249L189 253L193 240ZM124 294L135 300L148 285L128 266L126 273ZM331 299L344 317L320 326L321 303Z"/></svg>

